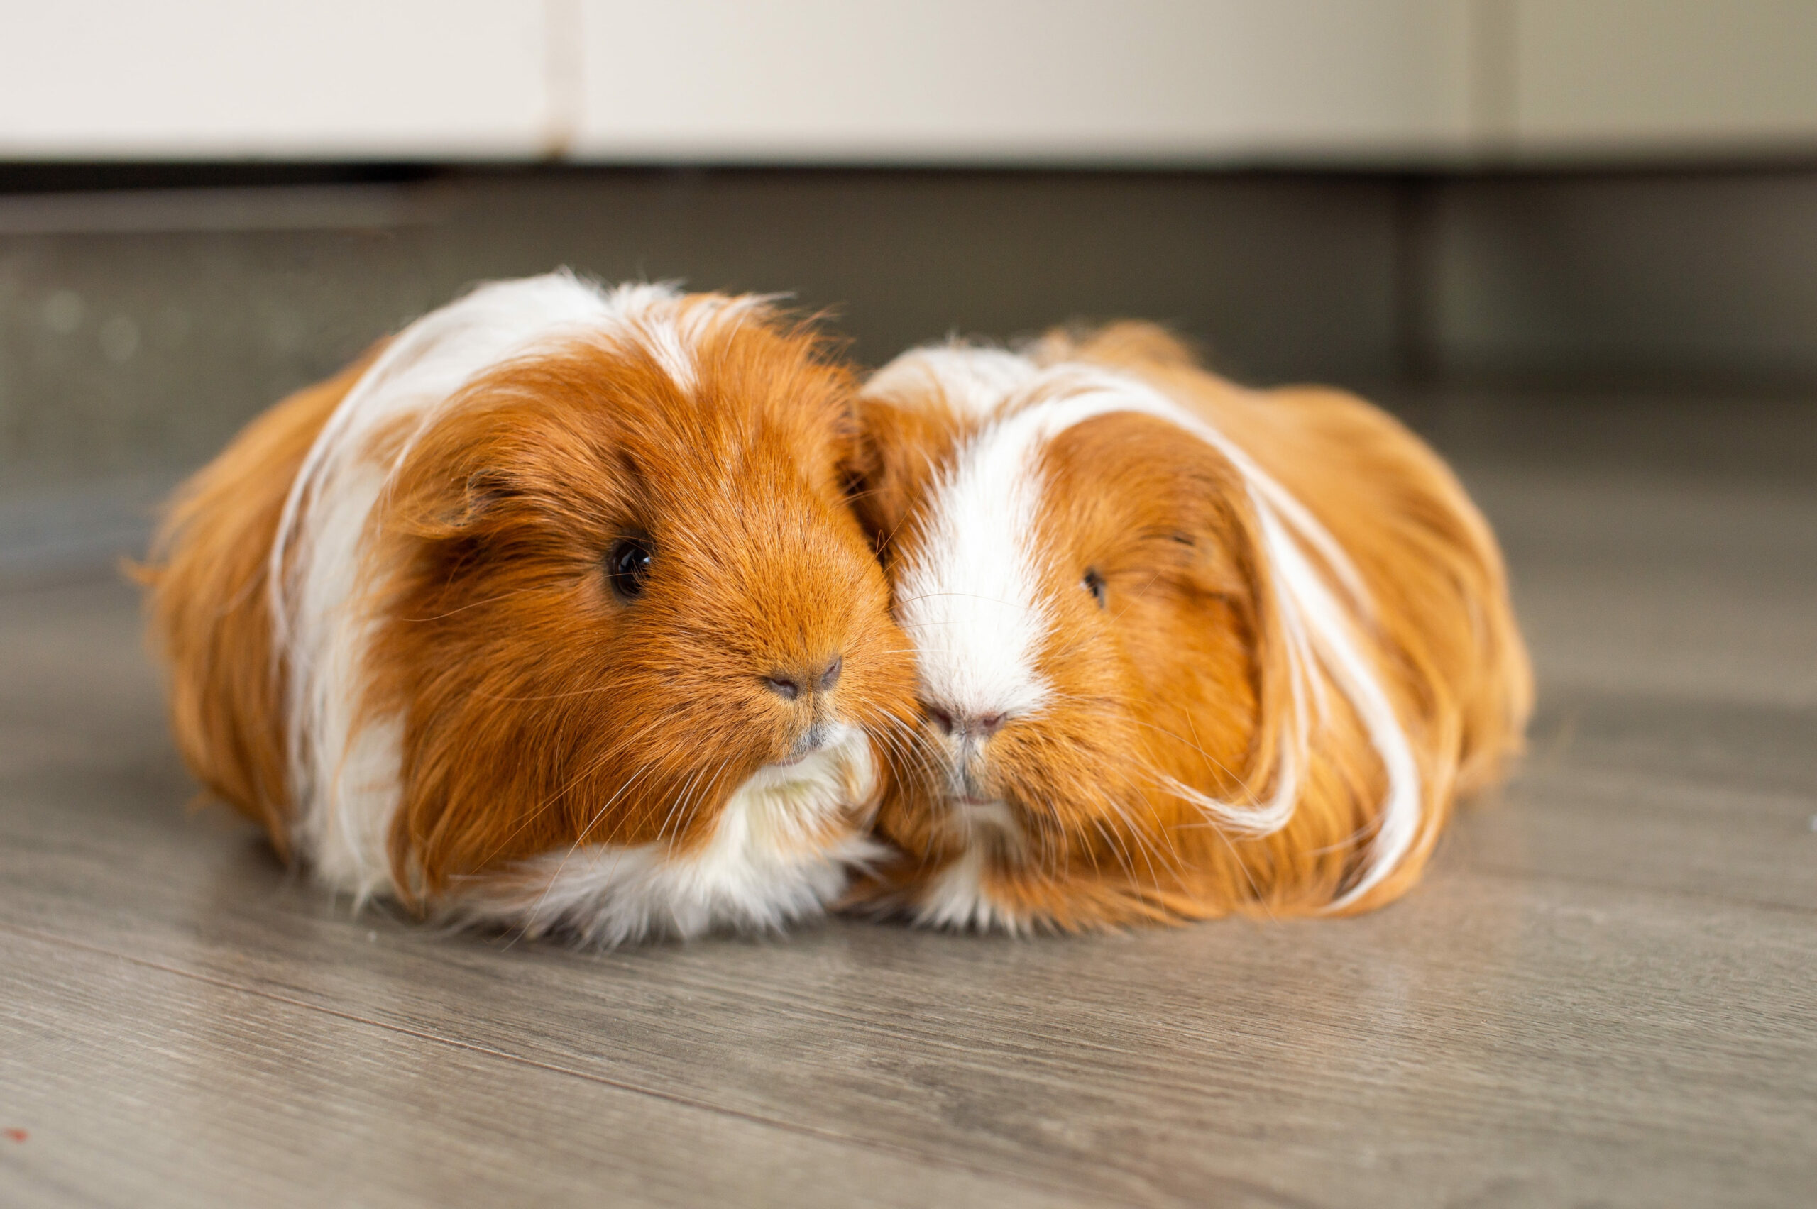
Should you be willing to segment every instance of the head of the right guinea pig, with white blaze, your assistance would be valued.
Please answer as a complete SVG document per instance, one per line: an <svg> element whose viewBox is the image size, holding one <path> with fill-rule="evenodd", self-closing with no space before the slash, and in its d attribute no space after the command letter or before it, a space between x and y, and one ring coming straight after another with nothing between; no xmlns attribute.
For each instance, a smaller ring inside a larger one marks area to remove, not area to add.
<svg viewBox="0 0 1817 1209"><path fill-rule="evenodd" d="M1205 879L1246 877L1221 804L1292 797L1239 465L1134 379L988 349L905 354L859 414L925 719L870 893L945 926L1205 913Z"/></svg>

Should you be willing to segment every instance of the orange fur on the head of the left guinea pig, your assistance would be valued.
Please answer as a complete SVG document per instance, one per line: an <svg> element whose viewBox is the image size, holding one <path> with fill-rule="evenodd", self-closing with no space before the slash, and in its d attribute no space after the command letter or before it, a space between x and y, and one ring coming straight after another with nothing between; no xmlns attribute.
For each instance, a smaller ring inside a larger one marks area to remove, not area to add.
<svg viewBox="0 0 1817 1209"><path fill-rule="evenodd" d="M843 655L852 721L912 710L843 503L850 383L814 354L729 329L689 398L647 358L580 343L474 383L416 445L371 554L391 572L367 712L407 719L400 886L578 842L703 842L825 708L767 692L772 670ZM600 575L620 532L670 570L638 608Z"/></svg>

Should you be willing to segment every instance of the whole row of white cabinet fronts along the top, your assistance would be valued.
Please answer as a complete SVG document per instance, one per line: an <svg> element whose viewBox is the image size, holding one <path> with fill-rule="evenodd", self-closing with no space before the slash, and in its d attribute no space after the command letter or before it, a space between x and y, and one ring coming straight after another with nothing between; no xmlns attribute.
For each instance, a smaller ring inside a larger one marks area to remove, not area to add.
<svg viewBox="0 0 1817 1209"><path fill-rule="evenodd" d="M1817 149L1817 0L0 0L0 158Z"/></svg>

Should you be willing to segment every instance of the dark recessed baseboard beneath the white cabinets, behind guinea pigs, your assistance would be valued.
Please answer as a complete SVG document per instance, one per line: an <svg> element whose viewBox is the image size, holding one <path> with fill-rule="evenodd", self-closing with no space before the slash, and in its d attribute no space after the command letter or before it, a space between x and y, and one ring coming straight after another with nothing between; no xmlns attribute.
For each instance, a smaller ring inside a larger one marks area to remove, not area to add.
<svg viewBox="0 0 1817 1209"><path fill-rule="evenodd" d="M1817 396L1812 167L15 163L0 476L167 477L465 285L554 265L787 290L867 363L1147 316L1257 383Z"/></svg>

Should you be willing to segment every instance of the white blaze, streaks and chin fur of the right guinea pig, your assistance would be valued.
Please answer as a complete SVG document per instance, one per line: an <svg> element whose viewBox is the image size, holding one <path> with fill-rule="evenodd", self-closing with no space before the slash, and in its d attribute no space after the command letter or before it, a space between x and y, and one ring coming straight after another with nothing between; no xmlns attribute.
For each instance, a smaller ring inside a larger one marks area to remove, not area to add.
<svg viewBox="0 0 1817 1209"><path fill-rule="evenodd" d="M1292 726L1266 777L1272 791L1265 801L1223 802L1179 782L1168 788L1214 824L1245 835L1286 826L1314 721L1326 708L1323 670L1350 701L1388 777L1370 859L1332 909L1361 899L1401 862L1419 835L1421 777L1406 730L1361 644L1372 617L1368 590L1330 530L1246 450L1139 379L1088 365L1039 367L1001 349L916 349L878 370L865 394L896 407L948 407L987 418L934 487L927 541L899 572L898 601L916 641L923 692L968 712L1027 713L1045 699L1034 654L1050 619L1032 546L1041 450L1077 423L1136 412L1174 423L1223 454L1243 476L1261 530L1290 668ZM990 688L999 695L990 697ZM1001 911L983 900L981 871L979 860L956 862L918 917L956 926L1001 922Z"/></svg>

